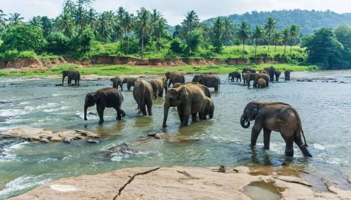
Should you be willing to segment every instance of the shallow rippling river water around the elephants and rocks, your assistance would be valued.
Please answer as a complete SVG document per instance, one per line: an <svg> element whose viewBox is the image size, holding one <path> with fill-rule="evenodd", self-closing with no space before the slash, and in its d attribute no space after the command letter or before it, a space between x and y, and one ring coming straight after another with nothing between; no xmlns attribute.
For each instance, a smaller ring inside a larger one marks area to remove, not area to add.
<svg viewBox="0 0 351 200"><path fill-rule="evenodd" d="M187 76L191 80L192 76ZM0 130L16 126L85 129L99 132L98 144L75 141L71 144L34 144L0 138L0 199L15 196L61 177L96 174L135 166L219 166L239 164L290 165L307 171L320 181L323 176L348 187L345 175L351 175L351 71L293 72L291 78L313 78L313 82L295 80L271 83L268 88L247 88L228 82L221 75L219 92L212 90L215 116L182 127L176 109L170 109L167 134L187 138L183 141L150 142L137 152L100 152L133 141L148 132L161 132L163 98L154 101L153 116L141 116L132 91L122 91L122 108L127 116L116 121L114 109L106 108L105 123L97 116L83 118L87 92L110 86L108 80L81 81L79 87L54 86L59 79L0 79ZM322 80L328 80L323 82ZM99 84L99 85L97 85ZM101 85L102 84L102 85ZM126 86L125 86L126 87ZM271 150L263 147L263 134L257 148L249 146L250 128L240 126L240 116L251 100L283 101L299 112L309 150L313 158L304 158L296 146L294 158L284 156L285 143L279 133L271 136ZM96 112L95 107L88 111ZM322 183L318 183L322 185Z"/></svg>

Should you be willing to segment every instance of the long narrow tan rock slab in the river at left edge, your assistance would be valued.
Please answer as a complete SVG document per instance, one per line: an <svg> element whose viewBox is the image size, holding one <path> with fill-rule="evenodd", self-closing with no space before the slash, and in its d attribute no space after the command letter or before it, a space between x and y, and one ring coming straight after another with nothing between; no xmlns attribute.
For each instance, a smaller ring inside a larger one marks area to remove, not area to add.
<svg viewBox="0 0 351 200"><path fill-rule="evenodd" d="M29 141L49 142L71 142L75 139L95 140L100 138L99 134L84 130L67 130L53 133L44 128L16 127L0 132L0 136L6 138L20 138Z"/></svg>

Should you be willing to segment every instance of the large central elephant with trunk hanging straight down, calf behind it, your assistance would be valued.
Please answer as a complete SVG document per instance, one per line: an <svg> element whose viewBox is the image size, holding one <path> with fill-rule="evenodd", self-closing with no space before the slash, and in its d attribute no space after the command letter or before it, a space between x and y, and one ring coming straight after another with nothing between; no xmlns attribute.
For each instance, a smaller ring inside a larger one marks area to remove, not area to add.
<svg viewBox="0 0 351 200"><path fill-rule="evenodd" d="M196 122L197 113L204 113L205 98L205 92L196 84L189 83L179 85L177 88L169 88L164 98L162 127L167 126L169 107L175 106L183 125L188 125L190 115L192 115L192 121Z"/></svg>

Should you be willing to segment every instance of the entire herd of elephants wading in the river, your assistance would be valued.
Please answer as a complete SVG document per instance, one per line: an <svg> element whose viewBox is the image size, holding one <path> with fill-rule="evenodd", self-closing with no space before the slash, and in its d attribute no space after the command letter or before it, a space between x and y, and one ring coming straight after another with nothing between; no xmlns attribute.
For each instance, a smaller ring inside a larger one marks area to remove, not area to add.
<svg viewBox="0 0 351 200"><path fill-rule="evenodd" d="M67 71L63 72L67 73ZM74 74L78 74L76 71ZM290 79L290 71L285 71L285 79ZM273 66L265 68L256 73L255 69L245 68L242 74L235 71L229 74L229 78L241 81L244 84L253 80L254 87L268 86L270 80L279 80L280 71L275 70ZM69 76L74 79L74 76ZM96 104L96 110L99 115L99 123L104 122L104 109L113 107L117 112L117 120L121 120L125 116L125 112L121 109L123 95L118 90L118 86L123 90L123 83L127 83L127 88L133 86L133 97L138 104L138 109L143 115L152 115L152 100L163 96L163 122L162 127L166 127L168 112L170 107L177 107L178 116L183 125L188 125L189 118L197 121L197 115L200 120L206 120L207 116L213 118L215 103L211 98L209 87L214 87L215 91L220 88L220 78L215 74L195 75L191 82L185 82L185 76L180 72L166 72L165 77L154 78L149 82L144 79L124 78L123 80L116 76L110 79L113 88L107 87L90 92L85 97L84 104L84 120L87 120L87 108ZM78 79L79 83L79 79ZM69 82L70 84L70 82ZM172 87L170 85L172 84ZM263 129L264 148L269 149L271 131L280 132L285 140L285 154L293 156L293 143L297 144L304 156L312 157L307 149L306 139L302 130L301 119L296 109L291 105L283 102L258 102L251 101L244 108L240 118L240 124L243 128L250 126L250 121L255 121L251 130L251 146L256 145L259 133ZM303 138L303 140L302 140Z"/></svg>

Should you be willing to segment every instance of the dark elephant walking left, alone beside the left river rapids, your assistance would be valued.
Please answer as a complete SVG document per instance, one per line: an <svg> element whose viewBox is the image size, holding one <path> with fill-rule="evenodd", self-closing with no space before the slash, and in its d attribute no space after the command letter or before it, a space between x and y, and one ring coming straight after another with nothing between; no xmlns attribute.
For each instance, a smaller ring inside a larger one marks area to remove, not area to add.
<svg viewBox="0 0 351 200"><path fill-rule="evenodd" d="M112 87L98 89L95 92L88 93L85 96L84 103L84 120L87 120L88 107L96 104L96 110L99 114L99 123L104 122L105 107L113 107L117 111L117 120L121 120L125 116L125 112L121 109L123 95L120 91Z"/></svg>

